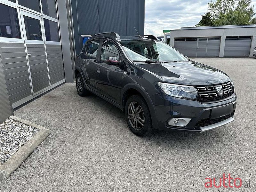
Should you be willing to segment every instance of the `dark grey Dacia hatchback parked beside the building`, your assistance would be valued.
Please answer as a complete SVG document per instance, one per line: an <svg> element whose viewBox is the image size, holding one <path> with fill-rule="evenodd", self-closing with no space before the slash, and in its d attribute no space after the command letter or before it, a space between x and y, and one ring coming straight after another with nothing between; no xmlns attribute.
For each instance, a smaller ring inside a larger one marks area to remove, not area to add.
<svg viewBox="0 0 256 192"><path fill-rule="evenodd" d="M93 92L123 110L139 136L154 129L200 133L234 120L236 93L228 75L152 35L92 36L76 57L75 75L80 96Z"/></svg>

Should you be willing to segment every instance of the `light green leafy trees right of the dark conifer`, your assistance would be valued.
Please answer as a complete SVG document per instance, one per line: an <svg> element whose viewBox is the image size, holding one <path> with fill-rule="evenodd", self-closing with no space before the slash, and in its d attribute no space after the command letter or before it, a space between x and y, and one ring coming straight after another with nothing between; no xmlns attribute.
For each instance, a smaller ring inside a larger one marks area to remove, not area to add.
<svg viewBox="0 0 256 192"><path fill-rule="evenodd" d="M208 3L213 25L256 24L251 0L216 0Z"/></svg>

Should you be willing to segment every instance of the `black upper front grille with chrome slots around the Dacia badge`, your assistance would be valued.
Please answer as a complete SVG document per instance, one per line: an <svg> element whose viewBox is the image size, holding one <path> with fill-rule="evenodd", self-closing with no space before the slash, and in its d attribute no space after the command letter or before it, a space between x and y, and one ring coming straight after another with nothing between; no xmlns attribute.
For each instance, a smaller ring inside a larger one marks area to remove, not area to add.
<svg viewBox="0 0 256 192"><path fill-rule="evenodd" d="M221 86L223 90L223 95L220 96L217 92L217 87ZM231 96L234 93L234 87L230 82L217 85L207 85L207 86L196 86L198 95L196 100L199 102L211 102L218 101Z"/></svg>

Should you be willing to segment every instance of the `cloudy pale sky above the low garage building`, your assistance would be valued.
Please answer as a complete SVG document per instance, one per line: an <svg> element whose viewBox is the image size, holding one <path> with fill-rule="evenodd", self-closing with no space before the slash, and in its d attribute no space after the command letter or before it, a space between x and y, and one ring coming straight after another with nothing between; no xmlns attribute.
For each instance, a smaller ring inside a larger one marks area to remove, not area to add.
<svg viewBox="0 0 256 192"><path fill-rule="evenodd" d="M145 0L145 34L163 36L163 29L195 26L210 0ZM252 0L256 12L256 0Z"/></svg>

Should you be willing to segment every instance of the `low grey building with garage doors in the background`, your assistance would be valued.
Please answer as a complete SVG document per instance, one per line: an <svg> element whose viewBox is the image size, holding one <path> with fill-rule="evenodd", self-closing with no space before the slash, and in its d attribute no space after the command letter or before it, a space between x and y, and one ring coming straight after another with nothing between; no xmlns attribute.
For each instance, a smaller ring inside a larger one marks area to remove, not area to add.
<svg viewBox="0 0 256 192"><path fill-rule="evenodd" d="M253 57L256 25L164 30L164 41L188 57Z"/></svg>

